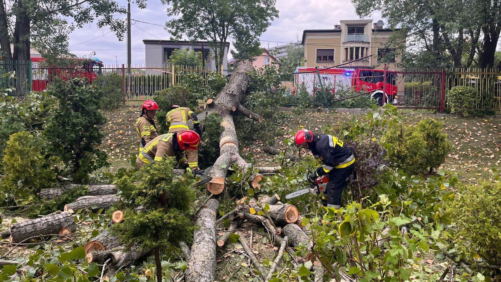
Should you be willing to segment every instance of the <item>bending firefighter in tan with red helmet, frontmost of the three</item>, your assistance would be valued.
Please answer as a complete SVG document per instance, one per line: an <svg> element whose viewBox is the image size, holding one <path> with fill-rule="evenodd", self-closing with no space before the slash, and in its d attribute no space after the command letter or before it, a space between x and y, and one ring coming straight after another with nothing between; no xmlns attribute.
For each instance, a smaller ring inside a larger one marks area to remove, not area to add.
<svg viewBox="0 0 501 282"><path fill-rule="evenodd" d="M176 157L179 166L186 171L203 174L203 170L192 170L188 163L193 160L184 159L184 151L198 150L200 136L193 130L184 130L177 133L166 133L155 137L144 146L144 150L136 159L137 168L141 169L145 164L161 161L167 157ZM196 155L196 154L195 154Z"/></svg>

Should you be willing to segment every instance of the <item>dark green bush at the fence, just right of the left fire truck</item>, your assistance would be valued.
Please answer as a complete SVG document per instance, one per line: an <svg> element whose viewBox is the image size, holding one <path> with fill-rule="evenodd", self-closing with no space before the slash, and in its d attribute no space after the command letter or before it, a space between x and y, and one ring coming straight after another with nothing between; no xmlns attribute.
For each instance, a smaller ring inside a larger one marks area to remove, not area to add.
<svg viewBox="0 0 501 282"><path fill-rule="evenodd" d="M101 96L101 107L104 109L116 109L123 105L123 80L122 76L116 73L107 73L98 76L93 81L99 91L103 92Z"/></svg>

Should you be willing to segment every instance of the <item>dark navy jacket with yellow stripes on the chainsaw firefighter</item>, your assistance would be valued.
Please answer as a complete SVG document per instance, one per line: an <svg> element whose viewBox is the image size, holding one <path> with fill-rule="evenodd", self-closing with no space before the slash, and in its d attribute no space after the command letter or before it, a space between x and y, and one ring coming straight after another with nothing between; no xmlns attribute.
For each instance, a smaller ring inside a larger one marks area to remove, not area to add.
<svg viewBox="0 0 501 282"><path fill-rule="evenodd" d="M355 156L350 147L335 136L322 134L314 135L310 145L313 157L320 163L316 171L317 176L330 173L333 169L346 168L355 163Z"/></svg>

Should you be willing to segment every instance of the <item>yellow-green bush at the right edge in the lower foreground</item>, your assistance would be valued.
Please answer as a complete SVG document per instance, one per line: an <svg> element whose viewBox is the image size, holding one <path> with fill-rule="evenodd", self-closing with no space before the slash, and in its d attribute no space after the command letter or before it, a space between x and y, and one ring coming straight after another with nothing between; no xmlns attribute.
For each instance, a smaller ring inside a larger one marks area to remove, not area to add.
<svg viewBox="0 0 501 282"><path fill-rule="evenodd" d="M447 205L449 235L462 257L501 265L501 183L466 185Z"/></svg>

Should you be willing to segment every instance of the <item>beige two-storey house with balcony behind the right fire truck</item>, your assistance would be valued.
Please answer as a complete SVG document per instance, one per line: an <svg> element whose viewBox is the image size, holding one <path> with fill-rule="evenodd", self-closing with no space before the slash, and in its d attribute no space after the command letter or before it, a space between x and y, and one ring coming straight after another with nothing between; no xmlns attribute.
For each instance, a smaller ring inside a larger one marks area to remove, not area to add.
<svg viewBox="0 0 501 282"><path fill-rule="evenodd" d="M305 30L301 44L305 46L306 67L331 67L358 60L347 67L375 67L397 70L396 49L388 46L388 39L400 29L384 29L382 22L372 20L343 20L334 29Z"/></svg>

